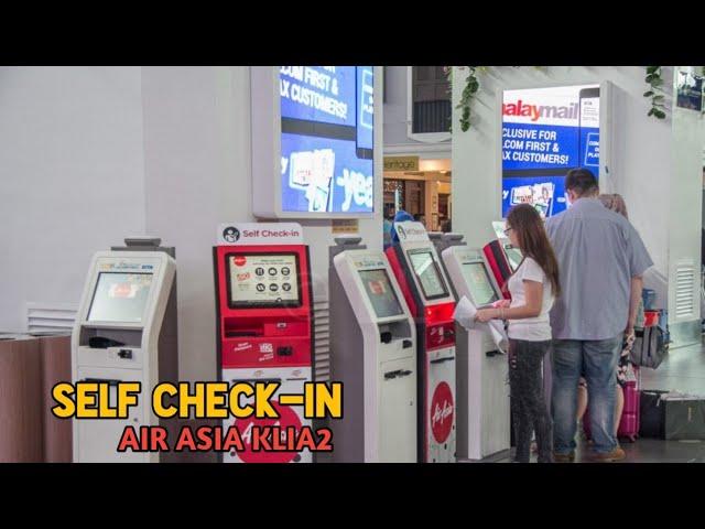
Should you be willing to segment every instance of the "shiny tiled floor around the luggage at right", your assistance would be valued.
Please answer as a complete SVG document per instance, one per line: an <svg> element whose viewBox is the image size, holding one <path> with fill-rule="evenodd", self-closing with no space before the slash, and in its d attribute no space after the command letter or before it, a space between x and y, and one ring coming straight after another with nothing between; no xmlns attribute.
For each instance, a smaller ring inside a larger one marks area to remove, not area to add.
<svg viewBox="0 0 705 529"><path fill-rule="evenodd" d="M705 396L705 346L673 349L658 369L641 370L642 389L677 390ZM625 463L705 463L705 441L638 439L622 443ZM535 456L532 457L535 461ZM581 442L576 462L589 461L589 446ZM509 462L509 458L499 462Z"/></svg>

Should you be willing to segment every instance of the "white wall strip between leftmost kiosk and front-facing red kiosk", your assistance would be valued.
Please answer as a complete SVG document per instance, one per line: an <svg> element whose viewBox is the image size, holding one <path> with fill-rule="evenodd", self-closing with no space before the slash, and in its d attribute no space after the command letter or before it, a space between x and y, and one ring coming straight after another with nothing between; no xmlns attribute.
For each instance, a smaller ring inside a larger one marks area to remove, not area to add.
<svg viewBox="0 0 705 529"><path fill-rule="evenodd" d="M142 68L147 230L176 248L180 373L216 373L216 226L250 219L248 68Z"/></svg>

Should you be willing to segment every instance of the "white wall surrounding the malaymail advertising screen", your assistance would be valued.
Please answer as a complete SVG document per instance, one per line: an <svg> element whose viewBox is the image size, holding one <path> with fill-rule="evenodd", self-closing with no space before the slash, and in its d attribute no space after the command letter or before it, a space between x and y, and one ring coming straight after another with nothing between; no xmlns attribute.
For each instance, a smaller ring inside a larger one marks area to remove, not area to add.
<svg viewBox="0 0 705 529"><path fill-rule="evenodd" d="M500 91L507 88L583 84L609 80L618 88L614 115L611 180L625 196L629 216L643 237L655 267L668 270L671 120L647 117L648 101L641 66L492 67L480 75L481 89L473 106L471 126L462 132L458 104L467 71L454 68L453 78L453 228L469 244L492 237L491 220L501 218ZM671 71L666 68L668 83ZM482 197L477 199L476 197Z"/></svg>

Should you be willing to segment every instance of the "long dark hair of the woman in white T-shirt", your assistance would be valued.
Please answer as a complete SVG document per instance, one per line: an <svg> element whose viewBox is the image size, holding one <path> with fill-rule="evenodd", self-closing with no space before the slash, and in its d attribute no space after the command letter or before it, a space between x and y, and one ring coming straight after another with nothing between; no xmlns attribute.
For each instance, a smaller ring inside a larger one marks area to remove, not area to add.
<svg viewBox="0 0 705 529"><path fill-rule="evenodd" d="M558 261L555 258L539 212L530 204L519 204L509 210L507 224L517 234L519 249L524 258L530 257L539 263L549 277L553 295L555 298L561 295Z"/></svg>

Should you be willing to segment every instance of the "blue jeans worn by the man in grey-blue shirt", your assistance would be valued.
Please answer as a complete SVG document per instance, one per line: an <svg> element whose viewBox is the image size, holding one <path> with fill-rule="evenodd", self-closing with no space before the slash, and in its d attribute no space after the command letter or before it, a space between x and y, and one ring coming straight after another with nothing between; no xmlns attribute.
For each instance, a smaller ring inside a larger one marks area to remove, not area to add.
<svg viewBox="0 0 705 529"><path fill-rule="evenodd" d="M610 339L554 339L553 388L553 450L568 454L575 450L577 427L577 384L585 374L589 395L590 435L598 453L617 447L615 429L615 373L621 353L622 335Z"/></svg>

